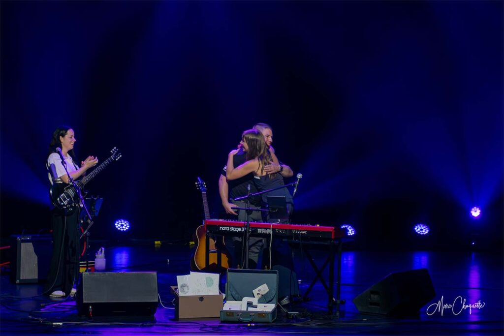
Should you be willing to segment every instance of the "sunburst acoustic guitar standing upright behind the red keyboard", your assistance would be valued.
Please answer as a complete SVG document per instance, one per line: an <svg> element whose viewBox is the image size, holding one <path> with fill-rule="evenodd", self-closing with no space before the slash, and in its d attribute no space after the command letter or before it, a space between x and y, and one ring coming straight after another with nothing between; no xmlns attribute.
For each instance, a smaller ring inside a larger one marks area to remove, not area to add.
<svg viewBox="0 0 504 336"><path fill-rule="evenodd" d="M201 197L203 199L203 209L205 211L205 219L210 219L210 211L208 210L208 200L207 200L207 186L201 178L198 177L198 182L196 182L196 188L201 190ZM227 251L221 250L221 266L217 264L217 253L219 252L216 246L215 240L213 238L207 237L205 231L205 225L200 225L196 229L194 234L195 241L198 242L196 251L191 260L191 268L194 271L213 271L213 272L223 272L229 268L229 253ZM205 245L206 240L209 243L209 262L208 267L205 265Z"/></svg>

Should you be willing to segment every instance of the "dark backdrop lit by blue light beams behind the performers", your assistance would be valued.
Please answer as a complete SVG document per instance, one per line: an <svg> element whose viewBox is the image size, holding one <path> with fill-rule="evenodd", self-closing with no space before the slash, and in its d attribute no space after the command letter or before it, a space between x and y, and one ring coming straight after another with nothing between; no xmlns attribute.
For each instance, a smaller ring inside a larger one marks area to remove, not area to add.
<svg viewBox="0 0 504 336"><path fill-rule="evenodd" d="M351 224L364 248L502 244L501 2L0 6L3 237L49 226L58 124L79 159L123 153L89 184L94 237L124 218L130 238L184 240L196 177L221 216L227 153L267 122L304 175L294 222Z"/></svg>

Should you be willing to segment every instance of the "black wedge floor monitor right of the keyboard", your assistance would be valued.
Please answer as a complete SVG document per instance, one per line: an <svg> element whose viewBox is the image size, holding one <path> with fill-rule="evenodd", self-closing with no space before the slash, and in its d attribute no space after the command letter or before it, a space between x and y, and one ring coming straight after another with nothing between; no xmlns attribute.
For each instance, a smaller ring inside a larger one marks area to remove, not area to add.
<svg viewBox="0 0 504 336"><path fill-rule="evenodd" d="M353 299L364 314L415 316L435 296L427 268L393 273Z"/></svg>

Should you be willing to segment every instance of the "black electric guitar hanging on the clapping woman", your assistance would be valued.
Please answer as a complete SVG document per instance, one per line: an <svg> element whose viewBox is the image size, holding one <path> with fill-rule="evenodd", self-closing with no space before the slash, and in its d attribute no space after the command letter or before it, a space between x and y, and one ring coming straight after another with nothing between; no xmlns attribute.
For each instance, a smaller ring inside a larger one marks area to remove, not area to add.
<svg viewBox="0 0 504 336"><path fill-rule="evenodd" d="M99 172L105 169L111 162L117 161L121 157L121 153L117 148L113 148L110 153L112 155L103 161L98 167L87 174L82 180L77 182L77 188L82 188L93 179ZM80 206L80 197L73 184L54 183L49 191L52 204L54 207L65 215L72 215Z"/></svg>

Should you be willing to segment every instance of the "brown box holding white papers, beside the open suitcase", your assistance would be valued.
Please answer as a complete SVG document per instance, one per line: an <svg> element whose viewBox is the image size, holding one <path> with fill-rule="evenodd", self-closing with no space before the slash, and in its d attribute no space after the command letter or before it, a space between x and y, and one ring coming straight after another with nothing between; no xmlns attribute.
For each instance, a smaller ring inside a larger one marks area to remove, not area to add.
<svg viewBox="0 0 504 336"><path fill-rule="evenodd" d="M175 294L175 318L218 318L224 307L224 296L219 295L188 295L179 296L178 287L170 286Z"/></svg>

